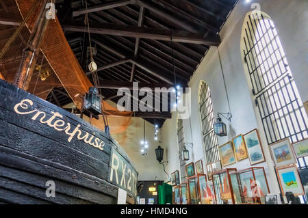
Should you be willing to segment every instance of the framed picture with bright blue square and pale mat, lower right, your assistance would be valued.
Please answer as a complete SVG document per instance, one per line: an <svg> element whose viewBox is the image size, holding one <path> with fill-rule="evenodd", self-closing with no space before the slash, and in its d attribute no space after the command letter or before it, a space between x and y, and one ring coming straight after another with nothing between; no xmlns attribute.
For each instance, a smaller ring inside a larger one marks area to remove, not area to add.
<svg viewBox="0 0 308 218"><path fill-rule="evenodd" d="M296 165L281 167L276 172L283 195L287 191L292 191L295 196L305 194Z"/></svg>

